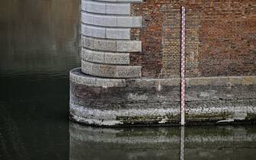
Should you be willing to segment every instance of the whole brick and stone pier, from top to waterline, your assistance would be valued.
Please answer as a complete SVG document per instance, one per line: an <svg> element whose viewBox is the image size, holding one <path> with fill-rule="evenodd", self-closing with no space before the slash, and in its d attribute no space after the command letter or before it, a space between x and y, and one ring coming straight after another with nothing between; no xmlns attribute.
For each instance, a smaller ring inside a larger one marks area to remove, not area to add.
<svg viewBox="0 0 256 160"><path fill-rule="evenodd" d="M180 124L180 6L186 7L186 123L255 122L256 2L249 0L81 0L72 120Z"/></svg>

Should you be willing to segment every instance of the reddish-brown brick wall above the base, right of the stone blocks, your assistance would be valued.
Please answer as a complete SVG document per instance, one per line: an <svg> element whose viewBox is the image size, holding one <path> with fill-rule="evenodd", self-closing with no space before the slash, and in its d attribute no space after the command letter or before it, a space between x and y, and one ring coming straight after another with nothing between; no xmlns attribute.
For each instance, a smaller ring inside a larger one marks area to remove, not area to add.
<svg viewBox="0 0 256 160"><path fill-rule="evenodd" d="M142 76L180 76L180 6L186 7L186 76L256 75L256 1L146 0L131 5L143 27L131 30Z"/></svg>

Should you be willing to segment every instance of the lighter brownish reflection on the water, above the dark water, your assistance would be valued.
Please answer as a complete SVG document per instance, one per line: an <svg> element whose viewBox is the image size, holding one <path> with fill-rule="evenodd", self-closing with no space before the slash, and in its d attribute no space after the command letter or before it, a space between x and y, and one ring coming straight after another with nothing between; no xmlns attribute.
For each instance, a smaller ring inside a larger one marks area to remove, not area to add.
<svg viewBox="0 0 256 160"><path fill-rule="evenodd" d="M1 1L0 35L2 75L66 74L79 62L79 0Z"/></svg>

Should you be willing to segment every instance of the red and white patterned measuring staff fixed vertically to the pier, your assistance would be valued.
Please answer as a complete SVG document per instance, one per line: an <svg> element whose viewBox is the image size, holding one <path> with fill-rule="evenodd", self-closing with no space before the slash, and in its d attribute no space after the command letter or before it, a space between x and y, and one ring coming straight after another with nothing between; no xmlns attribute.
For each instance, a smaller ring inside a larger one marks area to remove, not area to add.
<svg viewBox="0 0 256 160"><path fill-rule="evenodd" d="M181 71L180 71L180 81L181 81L181 104L180 104L180 124L185 125L185 24L186 24L186 9L181 7Z"/></svg>

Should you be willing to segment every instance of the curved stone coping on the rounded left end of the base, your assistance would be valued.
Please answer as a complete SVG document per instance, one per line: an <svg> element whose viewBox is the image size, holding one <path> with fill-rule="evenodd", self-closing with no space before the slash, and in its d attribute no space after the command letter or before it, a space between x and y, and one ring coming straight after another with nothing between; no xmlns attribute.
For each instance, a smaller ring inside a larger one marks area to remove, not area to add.
<svg viewBox="0 0 256 160"><path fill-rule="evenodd" d="M93 77L83 74L81 68L72 69L70 71L70 83L95 87L125 87L125 79Z"/></svg>

